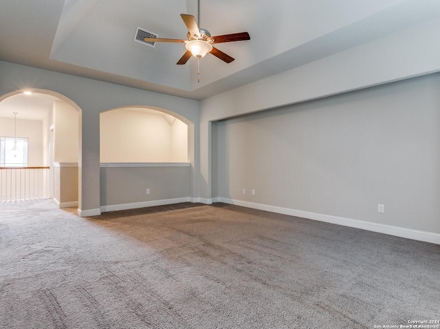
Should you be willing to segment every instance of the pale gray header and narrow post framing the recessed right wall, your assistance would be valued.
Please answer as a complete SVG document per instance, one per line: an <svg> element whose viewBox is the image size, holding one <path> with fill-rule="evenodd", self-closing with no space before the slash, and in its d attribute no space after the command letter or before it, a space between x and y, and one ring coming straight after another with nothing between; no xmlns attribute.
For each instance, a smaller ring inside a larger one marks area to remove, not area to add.
<svg viewBox="0 0 440 329"><path fill-rule="evenodd" d="M211 122L440 72L440 18L201 100L200 197L210 200Z"/></svg>

